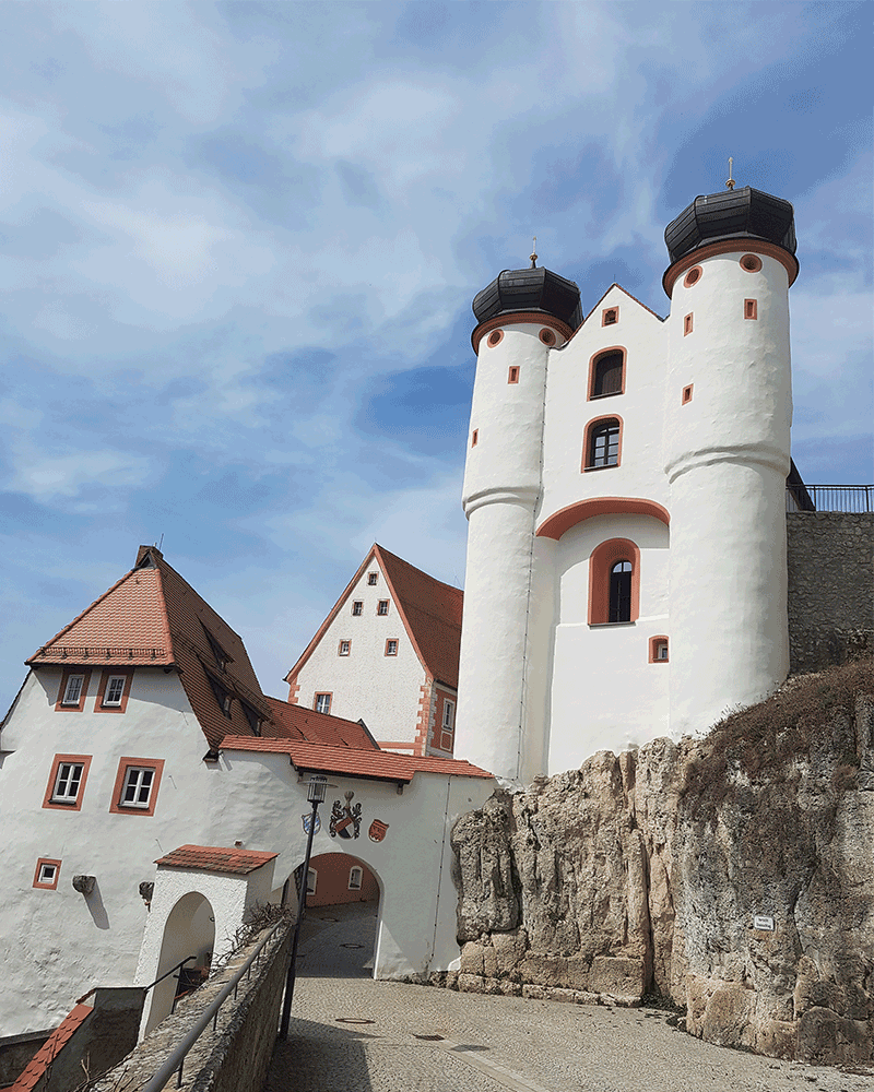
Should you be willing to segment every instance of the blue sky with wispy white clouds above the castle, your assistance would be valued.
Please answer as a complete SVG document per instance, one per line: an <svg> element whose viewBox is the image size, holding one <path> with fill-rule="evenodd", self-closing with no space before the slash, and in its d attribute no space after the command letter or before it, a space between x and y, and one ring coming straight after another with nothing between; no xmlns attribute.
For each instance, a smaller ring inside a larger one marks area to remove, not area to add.
<svg viewBox="0 0 874 1092"><path fill-rule="evenodd" d="M265 692L374 542L463 584L470 304L664 316L699 193L790 200L793 456L871 483L865 3L0 4L0 705L141 543Z"/></svg>

